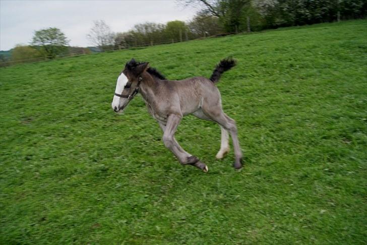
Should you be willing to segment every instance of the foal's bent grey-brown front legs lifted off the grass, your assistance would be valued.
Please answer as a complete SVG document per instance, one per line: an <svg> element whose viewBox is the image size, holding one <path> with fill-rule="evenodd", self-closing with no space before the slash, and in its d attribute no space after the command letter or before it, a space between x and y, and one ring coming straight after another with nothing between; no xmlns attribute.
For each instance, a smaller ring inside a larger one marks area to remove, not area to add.
<svg viewBox="0 0 367 245"><path fill-rule="evenodd" d="M159 126L163 130L164 145L177 157L178 161L182 165L190 164L202 169L204 172L208 172L208 167L204 163L199 161L196 156L192 156L187 153L175 140L174 133L176 132L181 119L182 117L180 115L170 114L167 118L166 125L159 123Z"/></svg>

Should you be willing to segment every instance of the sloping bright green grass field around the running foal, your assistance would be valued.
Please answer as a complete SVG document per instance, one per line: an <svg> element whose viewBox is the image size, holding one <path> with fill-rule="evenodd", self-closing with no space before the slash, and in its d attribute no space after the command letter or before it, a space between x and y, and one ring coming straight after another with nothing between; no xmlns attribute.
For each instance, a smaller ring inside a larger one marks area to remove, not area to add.
<svg viewBox="0 0 367 245"><path fill-rule="evenodd" d="M365 20L93 54L0 70L2 244L365 244ZM141 96L110 108L130 58L209 77L236 120L244 167L216 160L194 116L180 166Z"/></svg>

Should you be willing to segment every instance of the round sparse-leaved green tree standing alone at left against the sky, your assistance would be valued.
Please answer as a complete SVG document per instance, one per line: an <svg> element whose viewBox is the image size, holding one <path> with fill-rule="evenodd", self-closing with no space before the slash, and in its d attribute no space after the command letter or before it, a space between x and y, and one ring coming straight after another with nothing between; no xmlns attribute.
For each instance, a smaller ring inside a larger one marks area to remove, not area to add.
<svg viewBox="0 0 367 245"><path fill-rule="evenodd" d="M60 29L50 27L35 31L31 44L45 57L54 58L68 50L69 40Z"/></svg>

